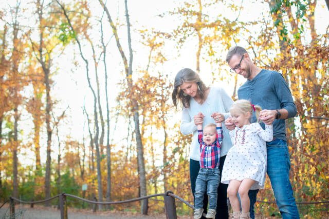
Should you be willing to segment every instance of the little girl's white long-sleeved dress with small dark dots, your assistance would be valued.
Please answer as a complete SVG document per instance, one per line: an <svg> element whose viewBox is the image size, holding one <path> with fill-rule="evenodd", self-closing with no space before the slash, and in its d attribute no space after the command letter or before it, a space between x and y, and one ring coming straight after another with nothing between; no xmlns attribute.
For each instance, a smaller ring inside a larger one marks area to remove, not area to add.
<svg viewBox="0 0 329 219"><path fill-rule="evenodd" d="M222 173L222 183L230 180L242 181L251 178L256 181L250 189L262 189L266 174L266 142L273 140L272 125L262 129L259 123L235 127L230 131L233 147L228 151Z"/></svg>

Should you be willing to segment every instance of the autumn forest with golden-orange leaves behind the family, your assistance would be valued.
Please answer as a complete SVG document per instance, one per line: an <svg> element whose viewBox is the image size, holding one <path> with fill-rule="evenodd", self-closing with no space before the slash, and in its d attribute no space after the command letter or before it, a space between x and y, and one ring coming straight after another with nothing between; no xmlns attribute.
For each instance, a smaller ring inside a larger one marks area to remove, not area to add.
<svg viewBox="0 0 329 219"><path fill-rule="evenodd" d="M294 196L311 203L298 204L300 215L328 216L328 203L312 203L329 201L329 1L0 2L0 205L62 192L110 202L171 190L193 201L192 136L179 130L174 76L191 68L237 99L245 79L225 56L240 45L288 83L298 110L286 120ZM258 200L275 201L268 178ZM163 206L150 200L149 211ZM275 204L255 208L280 216Z"/></svg>

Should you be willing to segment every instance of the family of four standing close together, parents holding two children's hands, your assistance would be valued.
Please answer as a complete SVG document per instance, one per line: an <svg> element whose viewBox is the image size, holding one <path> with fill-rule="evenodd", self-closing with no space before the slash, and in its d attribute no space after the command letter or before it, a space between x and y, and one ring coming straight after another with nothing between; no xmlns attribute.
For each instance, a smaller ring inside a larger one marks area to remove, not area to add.
<svg viewBox="0 0 329 219"><path fill-rule="evenodd" d="M226 61L247 79L235 102L224 89L207 87L191 69L181 69L175 77L172 99L176 108L182 105L180 131L193 134L194 218L203 213L228 218L227 194L233 218L254 218L266 173L282 217L299 218L285 132L285 119L297 113L289 87L279 72L255 66L242 47L231 48Z"/></svg>

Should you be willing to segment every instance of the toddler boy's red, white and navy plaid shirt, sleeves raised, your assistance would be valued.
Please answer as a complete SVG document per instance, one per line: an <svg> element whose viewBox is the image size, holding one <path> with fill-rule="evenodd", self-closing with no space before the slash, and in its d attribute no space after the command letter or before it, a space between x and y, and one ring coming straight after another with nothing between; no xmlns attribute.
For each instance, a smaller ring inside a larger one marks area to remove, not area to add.
<svg viewBox="0 0 329 219"><path fill-rule="evenodd" d="M218 168L220 166L221 146L223 141L222 127L216 128L216 141L206 145L203 141L203 131L197 130L200 144L200 168Z"/></svg>

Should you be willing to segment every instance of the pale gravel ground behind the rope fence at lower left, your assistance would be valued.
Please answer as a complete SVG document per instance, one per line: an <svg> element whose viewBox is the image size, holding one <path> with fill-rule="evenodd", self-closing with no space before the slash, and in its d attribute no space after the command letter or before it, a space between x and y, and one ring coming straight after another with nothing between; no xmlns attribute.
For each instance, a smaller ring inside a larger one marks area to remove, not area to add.
<svg viewBox="0 0 329 219"><path fill-rule="evenodd" d="M19 206L15 205L16 219L58 219L61 218L60 210L56 208L47 208L43 206ZM119 218L146 218L146 219L162 219L166 218L166 214L150 214L142 215L140 213L122 212L122 211L101 211L93 212L85 209L68 209L68 218L74 219L119 219ZM5 205L0 208L0 219L9 218L9 206ZM178 216L178 218L193 218L192 216Z"/></svg>

